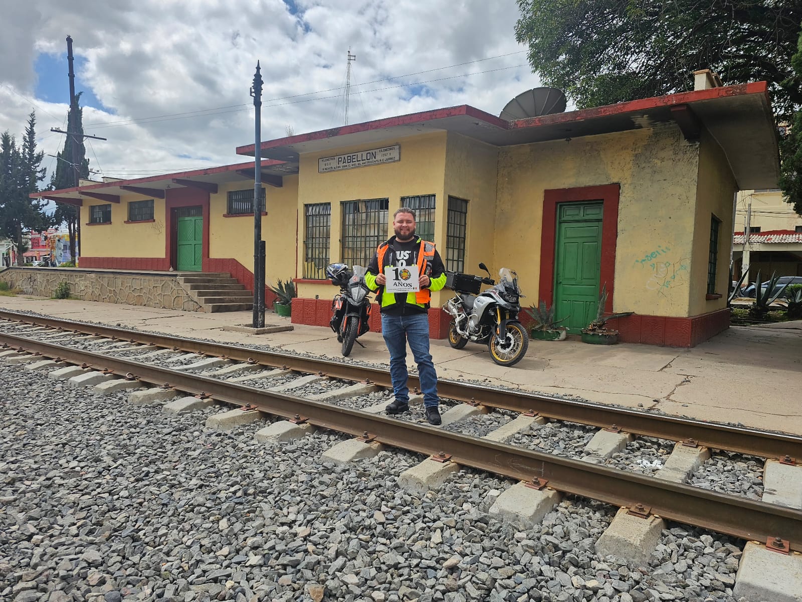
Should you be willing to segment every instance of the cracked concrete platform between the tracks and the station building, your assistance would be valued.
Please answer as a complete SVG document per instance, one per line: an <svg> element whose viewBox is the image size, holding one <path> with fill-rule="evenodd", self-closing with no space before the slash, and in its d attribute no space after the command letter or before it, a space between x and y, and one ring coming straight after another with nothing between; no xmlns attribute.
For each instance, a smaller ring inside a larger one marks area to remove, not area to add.
<svg viewBox="0 0 802 602"><path fill-rule="evenodd" d="M0 307L63 319L91 316L112 326L120 323L221 343L268 344L342 360L341 344L327 327L294 324L293 331L269 335L222 330L249 322L249 311L209 314L77 299L53 303L26 296L2 297ZM270 322L290 324L290 319L271 315ZM354 348L352 359L389 364L380 333L367 332L359 341L365 348ZM492 384L546 394L569 391L602 404L802 434L802 404L788 403L788 391L799 388L802 329L798 327L731 327L692 349L588 345L569 336L560 343L530 344L526 357L513 368L494 364L487 349L475 344L458 350L446 340L432 340L431 354L440 378L488 379Z"/></svg>

